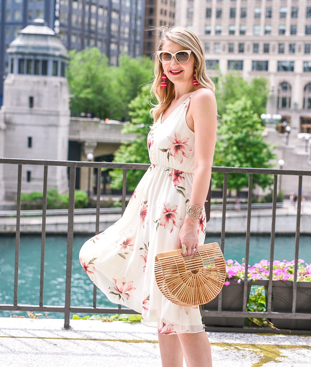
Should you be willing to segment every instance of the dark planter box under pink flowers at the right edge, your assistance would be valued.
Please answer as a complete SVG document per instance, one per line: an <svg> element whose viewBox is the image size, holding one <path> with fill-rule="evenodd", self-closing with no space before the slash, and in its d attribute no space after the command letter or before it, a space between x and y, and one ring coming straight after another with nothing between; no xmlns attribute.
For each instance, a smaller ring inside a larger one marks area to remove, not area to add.
<svg viewBox="0 0 311 367"><path fill-rule="evenodd" d="M272 281L272 304L274 312L292 312L293 282L288 280ZM297 281L296 312L311 313L311 282ZM277 328L311 330L311 319L271 319Z"/></svg>

